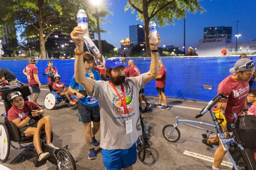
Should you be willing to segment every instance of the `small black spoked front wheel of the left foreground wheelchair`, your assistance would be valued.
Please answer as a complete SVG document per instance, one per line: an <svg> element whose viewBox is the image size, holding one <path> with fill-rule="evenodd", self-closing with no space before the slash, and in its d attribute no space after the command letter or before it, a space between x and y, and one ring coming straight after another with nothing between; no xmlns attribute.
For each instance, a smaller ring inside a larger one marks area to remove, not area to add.
<svg viewBox="0 0 256 170"><path fill-rule="evenodd" d="M59 148L56 157L58 170L76 170L75 160L67 149Z"/></svg>

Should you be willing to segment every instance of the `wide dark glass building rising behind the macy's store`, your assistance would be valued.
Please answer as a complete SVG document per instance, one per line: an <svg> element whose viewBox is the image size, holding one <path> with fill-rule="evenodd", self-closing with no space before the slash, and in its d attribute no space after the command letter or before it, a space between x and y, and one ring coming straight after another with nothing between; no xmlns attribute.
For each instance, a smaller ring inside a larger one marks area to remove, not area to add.
<svg viewBox="0 0 256 170"><path fill-rule="evenodd" d="M227 38L227 42L231 42L232 27L206 27L204 28L204 39Z"/></svg>

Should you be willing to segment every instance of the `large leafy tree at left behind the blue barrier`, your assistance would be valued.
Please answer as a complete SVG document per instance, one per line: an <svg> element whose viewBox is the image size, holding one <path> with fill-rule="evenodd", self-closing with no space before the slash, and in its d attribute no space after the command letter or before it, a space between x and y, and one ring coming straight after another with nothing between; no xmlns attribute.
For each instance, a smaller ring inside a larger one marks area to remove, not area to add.
<svg viewBox="0 0 256 170"><path fill-rule="evenodd" d="M97 29L95 9L89 0L0 0L0 4L0 25L16 26L23 38L35 35L42 58L46 58L45 42L50 34L55 30L69 34L77 26L76 13L80 5L85 7L89 18L89 31ZM100 7L100 17L110 13L106 6Z"/></svg>

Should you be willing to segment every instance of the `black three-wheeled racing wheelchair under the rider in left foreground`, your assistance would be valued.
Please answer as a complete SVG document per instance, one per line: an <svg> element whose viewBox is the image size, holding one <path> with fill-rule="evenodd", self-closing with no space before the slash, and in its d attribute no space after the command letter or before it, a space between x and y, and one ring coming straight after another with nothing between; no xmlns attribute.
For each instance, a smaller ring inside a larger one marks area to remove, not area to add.
<svg viewBox="0 0 256 170"><path fill-rule="evenodd" d="M31 95L28 86L25 86L21 83L21 86L7 86L4 89L1 89L2 100L4 100L4 107L6 113L2 114L4 117L4 123L0 123L0 161L6 162L10 153L10 146L14 149L31 149L35 151L33 146L33 137L23 137L20 135L20 132L16 125L7 119L8 110L11 108L11 103L7 100L7 95L12 91L21 92L25 101L28 101L28 96ZM42 115L41 115L42 116ZM40 118L39 118L40 119ZM49 152L50 156L47 159L38 161L37 159L33 160L34 166L39 167L43 164L46 164L47 160L54 165L57 165L58 170L76 170L76 164L73 156L67 150L68 146L64 148L60 147L59 149L52 148L46 143L46 132L41 131L41 140L42 140L42 151ZM51 142L53 140L53 133L51 135ZM17 142L18 147L12 145L12 142Z"/></svg>

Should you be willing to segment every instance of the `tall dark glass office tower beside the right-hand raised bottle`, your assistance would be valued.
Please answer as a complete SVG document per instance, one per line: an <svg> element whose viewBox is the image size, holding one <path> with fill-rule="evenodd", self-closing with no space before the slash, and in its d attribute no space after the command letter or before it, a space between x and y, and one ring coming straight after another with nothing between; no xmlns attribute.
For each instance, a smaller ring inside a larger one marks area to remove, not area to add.
<svg viewBox="0 0 256 170"><path fill-rule="evenodd" d="M135 45L145 46L145 34L144 34L144 26L140 24L135 24L133 26L129 26L129 36L130 43Z"/></svg>

